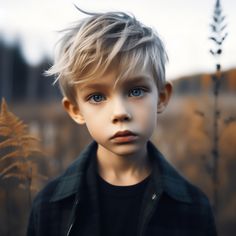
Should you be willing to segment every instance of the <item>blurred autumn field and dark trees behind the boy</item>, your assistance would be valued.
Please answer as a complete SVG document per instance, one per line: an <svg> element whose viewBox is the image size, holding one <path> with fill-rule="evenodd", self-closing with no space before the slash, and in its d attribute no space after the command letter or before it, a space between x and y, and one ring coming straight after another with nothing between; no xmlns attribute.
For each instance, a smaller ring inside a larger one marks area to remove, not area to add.
<svg viewBox="0 0 236 236"><path fill-rule="evenodd" d="M194 56L196 54L192 52L193 61ZM29 155L29 159L34 161L37 173L44 177L33 177L29 189L27 178L17 174L17 168L11 170L10 178L0 174L1 236L25 235L33 197L91 142L86 128L76 125L64 112L59 89L57 85L52 86L53 78L43 76L51 64L51 59L46 57L40 63L30 65L22 54L20 40L6 44L0 37L0 98L4 97L9 111L27 125L27 132L40 140L42 153ZM233 236L236 232L236 68L222 69L215 215L219 236ZM157 121L152 141L170 163L208 195L214 206L213 75L199 70L172 80L174 94ZM0 135L0 143L4 138ZM16 158L2 160L8 151L12 151L11 148L0 148L0 173L16 161ZM32 174L27 171L22 173Z"/></svg>

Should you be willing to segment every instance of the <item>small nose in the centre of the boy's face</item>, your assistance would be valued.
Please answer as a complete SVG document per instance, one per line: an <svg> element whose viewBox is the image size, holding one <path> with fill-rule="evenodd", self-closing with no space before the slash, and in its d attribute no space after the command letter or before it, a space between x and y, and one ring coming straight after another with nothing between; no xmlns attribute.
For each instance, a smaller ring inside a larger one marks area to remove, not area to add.
<svg viewBox="0 0 236 236"><path fill-rule="evenodd" d="M128 122L132 118L127 101L116 98L112 104L112 123Z"/></svg>

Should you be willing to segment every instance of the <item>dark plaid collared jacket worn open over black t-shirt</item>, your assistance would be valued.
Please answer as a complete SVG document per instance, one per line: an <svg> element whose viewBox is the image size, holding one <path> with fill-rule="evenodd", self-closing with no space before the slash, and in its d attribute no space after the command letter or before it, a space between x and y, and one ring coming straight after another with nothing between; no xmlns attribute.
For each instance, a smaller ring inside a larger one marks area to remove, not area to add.
<svg viewBox="0 0 236 236"><path fill-rule="evenodd" d="M97 144L93 142L63 175L37 195L28 236L100 235L96 150ZM137 236L217 235L207 197L185 180L150 142L148 153L153 171L141 206ZM83 209L88 209L88 220L80 218L82 204Z"/></svg>

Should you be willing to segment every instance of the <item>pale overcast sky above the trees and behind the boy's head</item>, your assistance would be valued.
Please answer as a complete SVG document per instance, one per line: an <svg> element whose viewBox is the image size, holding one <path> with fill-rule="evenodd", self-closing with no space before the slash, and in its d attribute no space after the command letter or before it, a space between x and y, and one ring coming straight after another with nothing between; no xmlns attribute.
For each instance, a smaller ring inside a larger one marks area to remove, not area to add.
<svg viewBox="0 0 236 236"><path fill-rule="evenodd" d="M27 62L39 63L53 55L58 30L88 11L126 11L154 27L168 55L167 78L213 72L214 59L208 40L215 0L0 0L0 38L8 44L17 39ZM236 67L236 1L221 0L229 33L223 46L223 69Z"/></svg>

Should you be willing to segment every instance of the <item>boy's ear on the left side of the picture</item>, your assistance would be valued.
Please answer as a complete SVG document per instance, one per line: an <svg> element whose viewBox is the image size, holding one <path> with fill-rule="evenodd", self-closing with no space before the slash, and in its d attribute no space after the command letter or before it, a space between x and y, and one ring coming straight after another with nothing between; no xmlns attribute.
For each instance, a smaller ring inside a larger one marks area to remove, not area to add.
<svg viewBox="0 0 236 236"><path fill-rule="evenodd" d="M62 99L62 105L69 114L69 116L78 124L85 124L85 120L79 106L77 104L72 103L67 97Z"/></svg>

